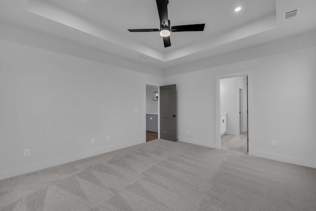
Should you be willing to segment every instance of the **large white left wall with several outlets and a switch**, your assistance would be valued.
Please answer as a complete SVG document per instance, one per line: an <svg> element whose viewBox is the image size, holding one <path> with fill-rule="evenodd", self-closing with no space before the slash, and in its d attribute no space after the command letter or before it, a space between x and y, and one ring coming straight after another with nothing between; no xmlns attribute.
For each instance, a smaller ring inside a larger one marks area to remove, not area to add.
<svg viewBox="0 0 316 211"><path fill-rule="evenodd" d="M0 179L145 142L145 82L162 77L0 40Z"/></svg>

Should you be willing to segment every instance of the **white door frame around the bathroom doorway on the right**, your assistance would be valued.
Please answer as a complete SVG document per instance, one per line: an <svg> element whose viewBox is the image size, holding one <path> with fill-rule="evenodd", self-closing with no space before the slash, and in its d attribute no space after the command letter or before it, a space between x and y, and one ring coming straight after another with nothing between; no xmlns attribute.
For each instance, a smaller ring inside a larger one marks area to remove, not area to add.
<svg viewBox="0 0 316 211"><path fill-rule="evenodd" d="M251 154L251 143L253 133L253 99L252 99L252 71L243 71L238 73L230 73L225 75L215 76L215 146L221 148L221 105L220 105L220 79L234 78L239 76L248 76L248 154Z"/></svg>

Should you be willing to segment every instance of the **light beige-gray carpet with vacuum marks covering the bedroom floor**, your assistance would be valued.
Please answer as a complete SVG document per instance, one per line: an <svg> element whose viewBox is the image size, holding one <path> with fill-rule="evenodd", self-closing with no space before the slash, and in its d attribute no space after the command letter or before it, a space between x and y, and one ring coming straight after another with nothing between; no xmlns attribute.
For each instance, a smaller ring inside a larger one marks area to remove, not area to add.
<svg viewBox="0 0 316 211"><path fill-rule="evenodd" d="M315 211L316 169L154 140L0 181L1 211Z"/></svg>

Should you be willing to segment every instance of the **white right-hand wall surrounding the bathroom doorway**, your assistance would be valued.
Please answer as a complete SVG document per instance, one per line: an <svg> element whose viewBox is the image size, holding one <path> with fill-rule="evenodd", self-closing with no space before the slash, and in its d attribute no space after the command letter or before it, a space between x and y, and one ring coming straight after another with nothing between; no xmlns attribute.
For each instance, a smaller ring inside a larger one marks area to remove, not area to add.
<svg viewBox="0 0 316 211"><path fill-rule="evenodd" d="M177 84L179 140L216 147L215 77L250 70L253 122L249 124L253 131L249 131L252 133L249 155L316 168L315 58L313 45L166 76L165 84ZM276 140L276 146L271 146L272 139Z"/></svg>

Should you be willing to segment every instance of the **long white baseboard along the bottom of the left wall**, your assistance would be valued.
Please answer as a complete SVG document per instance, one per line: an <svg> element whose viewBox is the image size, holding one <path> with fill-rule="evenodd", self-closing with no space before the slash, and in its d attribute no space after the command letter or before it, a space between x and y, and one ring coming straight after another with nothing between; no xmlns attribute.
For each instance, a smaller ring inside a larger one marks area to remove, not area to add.
<svg viewBox="0 0 316 211"><path fill-rule="evenodd" d="M66 163L77 161L77 160L84 159L84 158L89 158L89 157L100 155L100 154L103 154L103 153L112 152L112 151L115 151L115 150L118 150L118 149L123 149L123 148L126 148L126 147L130 147L130 146L134 146L134 145L137 145L137 144L141 144L141 143L144 143L144 140L142 140L142 141L132 141L132 142L119 144L119 145L111 146L111 147L107 147L107 148L92 150L92 151L88 151L88 152L82 152L82 153L71 155L71 156L67 156L67 157L64 157L64 158L48 160L48 161L44 161L44 162L41 162L41 163L31 164L31 165L28 165L28 166L17 167L17 168L14 168L14 169L1 170L0 171L0 180L1 179L6 179L6 178L10 178L10 177L13 177L13 176L22 175L22 174L25 174L25 173L30 173L30 172L41 170L41 169L46 169L46 168L50 168L50 167L66 164Z"/></svg>

